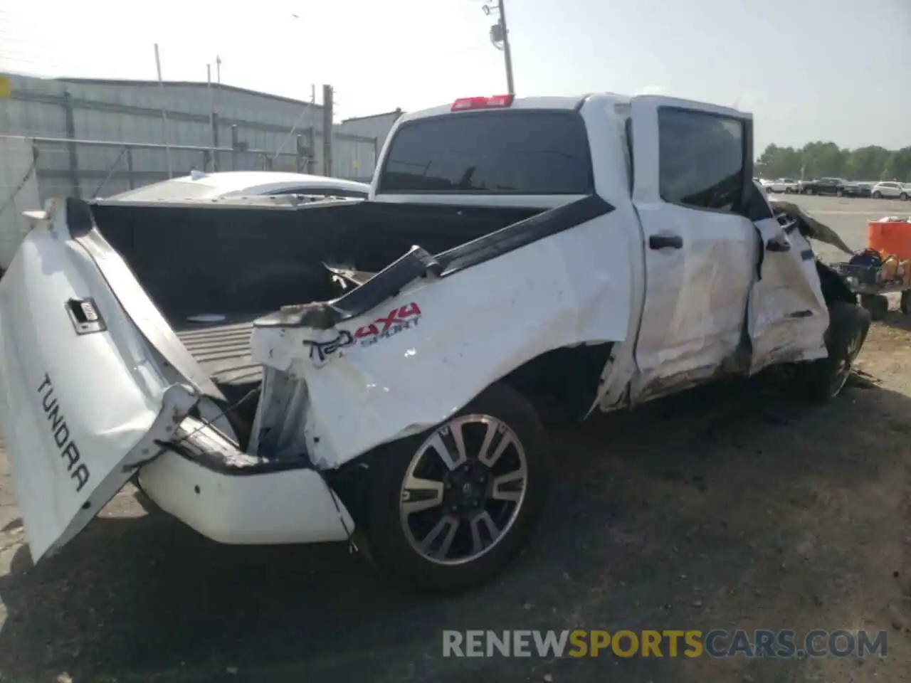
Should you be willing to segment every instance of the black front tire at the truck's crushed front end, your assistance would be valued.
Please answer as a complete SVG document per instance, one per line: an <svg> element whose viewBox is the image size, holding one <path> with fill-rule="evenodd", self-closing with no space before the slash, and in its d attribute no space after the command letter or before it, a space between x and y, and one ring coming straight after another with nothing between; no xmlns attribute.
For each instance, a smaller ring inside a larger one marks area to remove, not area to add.
<svg viewBox="0 0 911 683"><path fill-rule="evenodd" d="M829 319L828 357L794 367L794 392L813 403L827 403L842 392L870 330L869 312L844 301L829 304Z"/></svg>

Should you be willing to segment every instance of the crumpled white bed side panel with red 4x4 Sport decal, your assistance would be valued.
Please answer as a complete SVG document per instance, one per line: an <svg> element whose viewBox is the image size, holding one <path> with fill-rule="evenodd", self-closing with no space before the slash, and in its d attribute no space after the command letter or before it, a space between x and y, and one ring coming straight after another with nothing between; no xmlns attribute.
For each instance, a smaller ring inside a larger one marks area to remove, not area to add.
<svg viewBox="0 0 911 683"><path fill-rule="evenodd" d="M641 253L630 219L616 211L445 278L415 280L330 329L254 328L253 360L294 381L264 386L251 450L283 425L284 448L304 447L317 466L336 467L445 421L541 353L625 339ZM289 435L290 412L301 411Z"/></svg>

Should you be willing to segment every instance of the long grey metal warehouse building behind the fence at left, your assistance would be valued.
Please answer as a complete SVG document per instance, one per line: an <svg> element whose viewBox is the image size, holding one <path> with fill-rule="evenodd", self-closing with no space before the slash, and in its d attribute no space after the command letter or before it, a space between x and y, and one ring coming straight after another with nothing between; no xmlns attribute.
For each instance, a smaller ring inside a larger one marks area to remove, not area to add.
<svg viewBox="0 0 911 683"><path fill-rule="evenodd" d="M114 194L167 178L169 168L174 176L273 168L369 180L382 144L334 129L326 145L322 106L240 87L6 77L0 135L32 139L42 200Z"/></svg>

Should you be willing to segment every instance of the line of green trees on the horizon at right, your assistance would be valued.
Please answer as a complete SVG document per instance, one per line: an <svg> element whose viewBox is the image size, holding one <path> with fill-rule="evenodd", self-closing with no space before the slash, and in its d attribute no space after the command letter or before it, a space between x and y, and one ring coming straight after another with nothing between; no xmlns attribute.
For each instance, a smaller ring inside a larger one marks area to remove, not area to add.
<svg viewBox="0 0 911 683"><path fill-rule="evenodd" d="M844 178L911 182L911 147L876 145L842 149L834 142L808 142L803 148L769 145L755 164L761 178Z"/></svg>

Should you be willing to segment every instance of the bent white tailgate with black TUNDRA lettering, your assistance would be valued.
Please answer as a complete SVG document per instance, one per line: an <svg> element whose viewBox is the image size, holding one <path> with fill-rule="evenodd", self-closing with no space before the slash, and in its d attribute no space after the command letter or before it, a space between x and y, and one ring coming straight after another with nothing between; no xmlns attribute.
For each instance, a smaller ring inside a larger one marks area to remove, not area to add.
<svg viewBox="0 0 911 683"><path fill-rule="evenodd" d="M0 421L32 556L76 535L159 452L196 402L168 382L87 251L64 204L0 280ZM79 328L91 301L104 331Z"/></svg>

